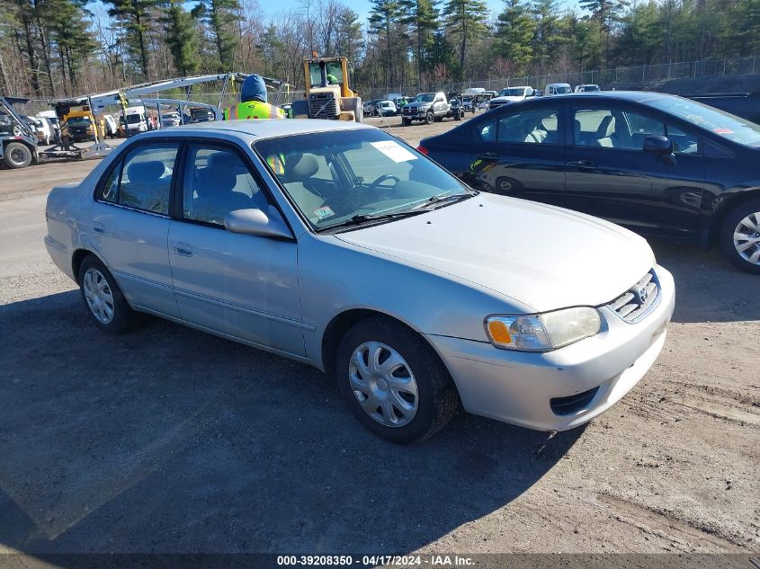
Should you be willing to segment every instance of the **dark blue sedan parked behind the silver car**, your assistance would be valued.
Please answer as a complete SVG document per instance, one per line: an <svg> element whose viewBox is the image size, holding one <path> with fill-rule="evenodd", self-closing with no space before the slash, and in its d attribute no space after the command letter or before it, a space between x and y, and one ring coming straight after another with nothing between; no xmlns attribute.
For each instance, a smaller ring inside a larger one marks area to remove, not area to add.
<svg viewBox="0 0 760 569"><path fill-rule="evenodd" d="M478 190L720 244L760 273L760 126L749 120L662 93L577 93L499 107L419 149Z"/></svg>

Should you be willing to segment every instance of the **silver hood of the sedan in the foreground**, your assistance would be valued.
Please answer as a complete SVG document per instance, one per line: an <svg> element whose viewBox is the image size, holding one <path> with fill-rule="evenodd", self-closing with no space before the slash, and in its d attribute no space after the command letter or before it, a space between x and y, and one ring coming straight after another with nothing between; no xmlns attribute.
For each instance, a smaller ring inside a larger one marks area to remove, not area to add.
<svg viewBox="0 0 760 569"><path fill-rule="evenodd" d="M336 236L495 290L539 312L603 305L655 264L647 242L627 229L492 194Z"/></svg>

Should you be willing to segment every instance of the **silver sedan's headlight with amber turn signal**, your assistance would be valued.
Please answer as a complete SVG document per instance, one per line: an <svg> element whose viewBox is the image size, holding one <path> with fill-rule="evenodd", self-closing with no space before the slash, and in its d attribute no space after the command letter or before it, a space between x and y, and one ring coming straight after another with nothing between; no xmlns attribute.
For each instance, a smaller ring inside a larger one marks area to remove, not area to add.
<svg viewBox="0 0 760 569"><path fill-rule="evenodd" d="M550 351L599 332L602 317L592 307L575 307L533 315L488 316L488 339L496 348Z"/></svg>

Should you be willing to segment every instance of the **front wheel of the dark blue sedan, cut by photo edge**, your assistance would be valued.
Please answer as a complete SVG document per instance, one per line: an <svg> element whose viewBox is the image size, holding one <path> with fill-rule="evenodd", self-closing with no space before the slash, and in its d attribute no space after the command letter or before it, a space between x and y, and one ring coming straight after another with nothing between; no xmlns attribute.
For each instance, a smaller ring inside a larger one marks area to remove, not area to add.
<svg viewBox="0 0 760 569"><path fill-rule="evenodd" d="M742 271L760 274L760 199L729 211L720 226L719 242L730 262Z"/></svg>

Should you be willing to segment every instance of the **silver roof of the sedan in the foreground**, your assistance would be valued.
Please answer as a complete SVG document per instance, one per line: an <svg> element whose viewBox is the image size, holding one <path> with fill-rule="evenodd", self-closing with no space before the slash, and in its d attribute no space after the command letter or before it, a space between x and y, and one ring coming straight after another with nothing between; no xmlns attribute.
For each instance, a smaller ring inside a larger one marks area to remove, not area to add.
<svg viewBox="0 0 760 569"><path fill-rule="evenodd" d="M318 119L285 119L285 120L211 120L174 127L169 132L174 136L182 134L190 136L193 132L202 131L242 133L256 138L286 137L329 130L371 129L372 127L348 120L318 120ZM164 130L153 130L147 133L162 136ZM144 135L143 135L144 136Z"/></svg>

